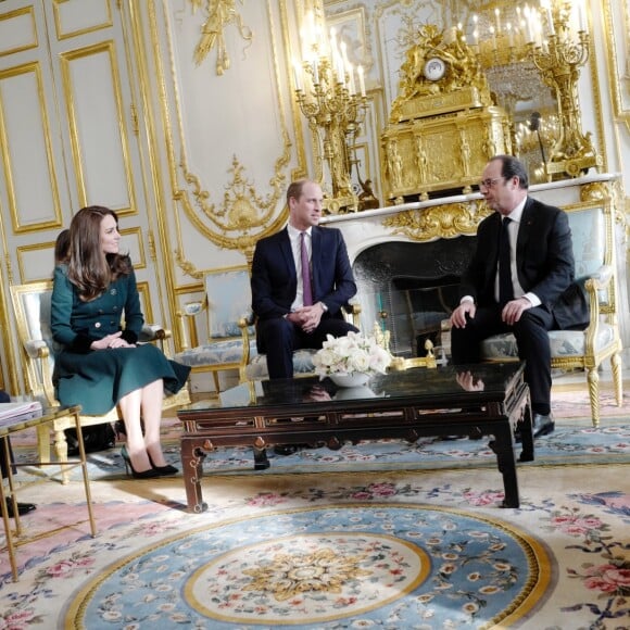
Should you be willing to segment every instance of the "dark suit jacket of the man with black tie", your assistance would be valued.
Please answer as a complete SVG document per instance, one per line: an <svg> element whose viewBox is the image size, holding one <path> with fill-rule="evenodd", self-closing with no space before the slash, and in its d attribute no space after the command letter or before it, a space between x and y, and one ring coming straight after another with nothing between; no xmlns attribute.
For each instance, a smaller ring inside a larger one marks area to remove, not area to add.
<svg viewBox="0 0 630 630"><path fill-rule="evenodd" d="M484 218L477 230L477 249L462 278L461 295L481 306L494 305L501 215ZM557 328L589 322L585 295L574 284L575 261L567 214L558 207L527 198L516 243L518 281L525 292L539 297L553 314Z"/></svg>

